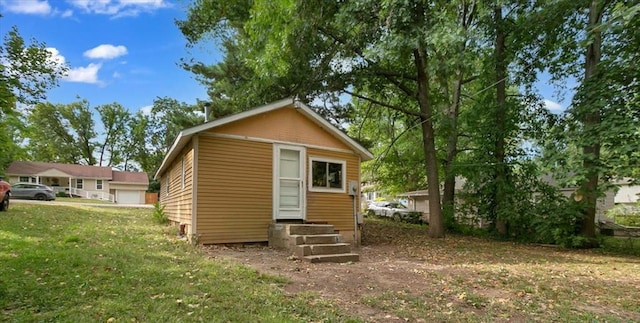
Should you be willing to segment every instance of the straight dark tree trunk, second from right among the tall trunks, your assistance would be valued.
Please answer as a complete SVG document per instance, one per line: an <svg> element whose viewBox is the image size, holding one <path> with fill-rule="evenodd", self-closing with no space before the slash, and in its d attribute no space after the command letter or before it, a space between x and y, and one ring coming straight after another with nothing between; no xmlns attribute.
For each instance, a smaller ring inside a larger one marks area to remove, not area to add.
<svg viewBox="0 0 640 323"><path fill-rule="evenodd" d="M506 109L506 59L505 59L505 31L502 17L502 6L494 7L494 22L496 24L495 43L495 67L496 67L496 110L495 110L495 182L494 182L494 209L496 229L501 234L507 233L507 222L503 217L506 202L505 185L507 179L507 167L505 165L505 115Z"/></svg>

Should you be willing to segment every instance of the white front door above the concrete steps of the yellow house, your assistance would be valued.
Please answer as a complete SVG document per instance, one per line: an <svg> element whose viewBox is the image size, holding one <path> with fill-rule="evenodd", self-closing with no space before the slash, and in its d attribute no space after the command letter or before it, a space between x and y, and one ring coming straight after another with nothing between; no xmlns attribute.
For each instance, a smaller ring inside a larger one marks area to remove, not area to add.
<svg viewBox="0 0 640 323"><path fill-rule="evenodd" d="M274 144L273 218L304 220L304 147Z"/></svg>

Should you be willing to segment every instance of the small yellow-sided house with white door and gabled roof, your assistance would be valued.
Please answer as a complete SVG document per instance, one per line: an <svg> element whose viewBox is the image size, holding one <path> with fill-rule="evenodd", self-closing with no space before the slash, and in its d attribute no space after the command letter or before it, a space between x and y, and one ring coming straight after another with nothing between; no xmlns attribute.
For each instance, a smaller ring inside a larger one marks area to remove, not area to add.
<svg viewBox="0 0 640 323"><path fill-rule="evenodd" d="M155 178L169 219L198 243L268 241L277 222L329 224L353 241L360 163L372 158L285 99L183 130Z"/></svg>

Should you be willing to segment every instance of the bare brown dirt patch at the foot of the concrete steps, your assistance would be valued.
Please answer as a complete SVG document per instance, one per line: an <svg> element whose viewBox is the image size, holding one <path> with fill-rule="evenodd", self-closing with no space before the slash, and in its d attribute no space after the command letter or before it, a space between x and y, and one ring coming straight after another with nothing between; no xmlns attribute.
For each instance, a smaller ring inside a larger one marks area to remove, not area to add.
<svg viewBox="0 0 640 323"><path fill-rule="evenodd" d="M433 270L418 259L398 257L393 246L361 247L354 250L360 261L354 263L309 263L295 259L288 252L266 246L208 246L212 257L231 259L261 273L289 279L285 292L312 291L340 304L350 315L369 322L402 321L393 314L362 302L380 293L420 294L430 288L426 270Z"/></svg>

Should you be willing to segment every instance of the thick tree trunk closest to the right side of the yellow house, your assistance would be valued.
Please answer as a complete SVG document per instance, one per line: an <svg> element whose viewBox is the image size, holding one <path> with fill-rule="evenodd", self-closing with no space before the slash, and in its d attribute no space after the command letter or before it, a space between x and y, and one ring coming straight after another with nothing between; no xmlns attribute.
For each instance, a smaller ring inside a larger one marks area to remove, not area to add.
<svg viewBox="0 0 640 323"><path fill-rule="evenodd" d="M433 107L429 100L429 74L427 72L427 51L421 44L413 52L418 70L418 103L422 125L422 146L426 160L427 185L429 192L429 237L444 238L444 222L440 208L440 180L438 179L438 158L436 156L435 134L433 131Z"/></svg>

